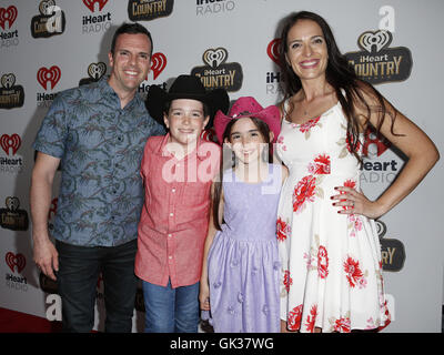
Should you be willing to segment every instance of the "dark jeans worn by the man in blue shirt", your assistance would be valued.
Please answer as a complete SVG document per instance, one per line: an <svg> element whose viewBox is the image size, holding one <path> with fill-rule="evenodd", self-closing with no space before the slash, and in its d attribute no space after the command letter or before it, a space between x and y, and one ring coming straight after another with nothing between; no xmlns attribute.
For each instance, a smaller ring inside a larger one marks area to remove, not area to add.
<svg viewBox="0 0 444 355"><path fill-rule="evenodd" d="M104 331L130 333L138 287L134 275L137 240L110 247L85 247L56 241L56 247L63 332L91 332L97 283L102 273L107 311Z"/></svg>

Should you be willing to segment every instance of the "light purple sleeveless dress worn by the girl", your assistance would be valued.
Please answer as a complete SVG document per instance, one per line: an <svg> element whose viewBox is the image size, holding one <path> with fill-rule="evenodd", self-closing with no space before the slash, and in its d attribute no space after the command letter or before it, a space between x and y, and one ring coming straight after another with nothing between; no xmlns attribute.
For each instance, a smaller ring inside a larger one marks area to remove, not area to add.
<svg viewBox="0 0 444 355"><path fill-rule="evenodd" d="M208 258L211 323L216 333L280 332L281 174L280 165L269 164L269 178L250 184L231 169L224 173L224 224Z"/></svg>

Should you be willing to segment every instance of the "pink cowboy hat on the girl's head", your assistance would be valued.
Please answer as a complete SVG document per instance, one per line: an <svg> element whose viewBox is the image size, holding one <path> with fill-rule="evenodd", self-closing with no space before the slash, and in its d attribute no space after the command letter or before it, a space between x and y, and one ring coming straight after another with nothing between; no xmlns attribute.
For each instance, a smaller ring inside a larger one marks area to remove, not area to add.
<svg viewBox="0 0 444 355"><path fill-rule="evenodd" d="M270 131L274 133L274 143L281 132L281 113L278 106L270 105L265 109L252 97L239 98L233 106L231 108L229 115L225 115L221 110L215 113L214 116L214 130L218 135L219 143L222 144L223 132L225 131L226 124L233 119L242 118L256 118L264 121Z"/></svg>

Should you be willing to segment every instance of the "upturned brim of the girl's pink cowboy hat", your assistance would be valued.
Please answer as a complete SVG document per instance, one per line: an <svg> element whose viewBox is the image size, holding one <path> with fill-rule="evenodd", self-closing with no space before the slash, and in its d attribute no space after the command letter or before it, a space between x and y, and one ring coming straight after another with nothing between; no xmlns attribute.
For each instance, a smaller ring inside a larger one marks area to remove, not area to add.
<svg viewBox="0 0 444 355"><path fill-rule="evenodd" d="M252 116L258 118L268 124L270 131L273 132L274 135L272 143L275 143L278 140L278 135L281 133L281 112L275 105L270 105L262 111L251 114L238 115L235 118L228 116L222 111L218 111L214 116L214 130L219 143L223 144L223 133L225 131L226 124L229 124L230 121Z"/></svg>

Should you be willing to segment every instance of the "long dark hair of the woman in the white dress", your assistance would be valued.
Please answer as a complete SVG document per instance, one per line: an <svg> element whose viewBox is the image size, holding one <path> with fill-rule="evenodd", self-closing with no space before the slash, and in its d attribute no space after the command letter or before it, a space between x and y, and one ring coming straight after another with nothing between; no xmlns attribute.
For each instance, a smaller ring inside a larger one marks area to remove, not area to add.
<svg viewBox="0 0 444 355"><path fill-rule="evenodd" d="M384 121L385 113L387 113L386 105L384 103L383 97L381 93L373 88L370 83L360 80L354 72L353 68L349 64L347 59L343 55L337 45L336 41L334 40L332 30L330 29L329 23L319 14L309 12L309 11L300 11L293 12L284 19L283 28L281 31L281 49L280 49L280 63L281 69L283 71L283 81L284 81L284 99L285 102L289 98L293 97L297 91L302 89L301 80L299 77L293 72L291 65L286 62L286 53L289 50L287 47L287 36L289 31L293 28L293 26L300 20L311 20L316 22L325 39L327 54L329 54L329 63L325 71L325 78L329 84L331 84L339 98L339 101L342 105L342 110L345 114L347 120L347 142L349 149L351 152L356 156L356 159L362 163L362 158L359 154L359 134L360 134L360 120L356 114L356 110L354 109L355 105L360 105L365 108L367 115L365 125L369 124L369 119L371 111L376 111L379 113L377 124L375 126L376 132L380 133L381 126ZM362 90L365 91L366 94L374 97L377 101L377 106L370 106L369 103L365 101ZM344 91L344 94L342 93ZM282 102L282 103L283 103ZM290 104L289 111L286 111L285 105L281 104L282 109L284 110L285 118L290 118L293 111L293 104ZM393 132L393 124L396 118L396 110L394 114L389 112L392 119L392 126L391 131ZM290 120L289 120L290 121Z"/></svg>

